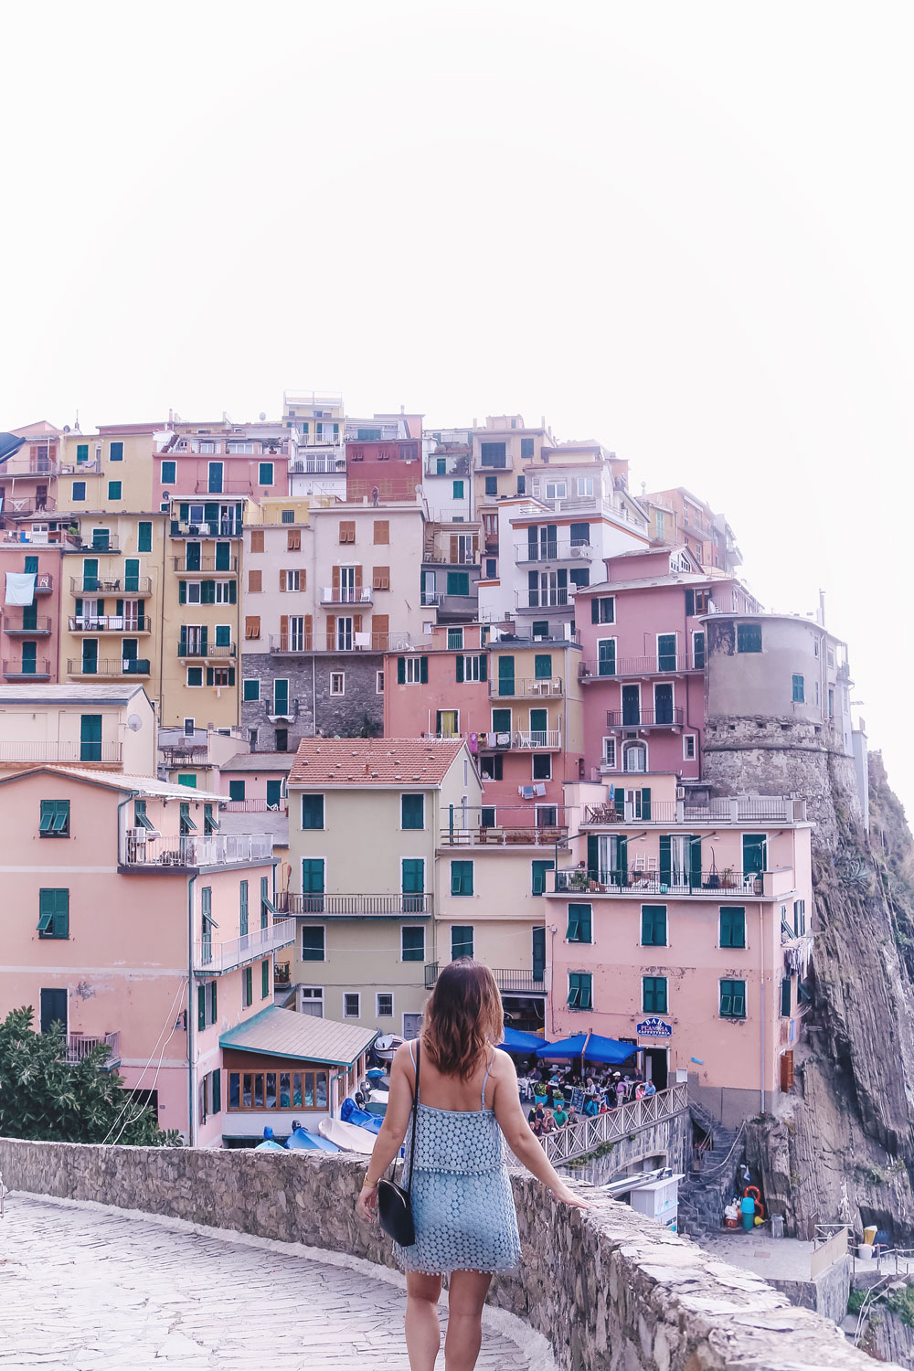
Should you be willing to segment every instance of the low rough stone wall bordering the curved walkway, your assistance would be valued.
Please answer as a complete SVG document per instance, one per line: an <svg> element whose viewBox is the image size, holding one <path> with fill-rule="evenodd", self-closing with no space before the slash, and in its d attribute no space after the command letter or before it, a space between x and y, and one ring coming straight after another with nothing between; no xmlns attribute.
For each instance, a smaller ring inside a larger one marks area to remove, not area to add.
<svg viewBox="0 0 914 1371"><path fill-rule="evenodd" d="M391 1246L355 1217L365 1161L345 1154L103 1148L0 1139L12 1190L96 1201L352 1253ZM595 1193L586 1213L514 1172L523 1257L492 1301L551 1342L565 1371L866 1371L835 1324L762 1279Z"/></svg>

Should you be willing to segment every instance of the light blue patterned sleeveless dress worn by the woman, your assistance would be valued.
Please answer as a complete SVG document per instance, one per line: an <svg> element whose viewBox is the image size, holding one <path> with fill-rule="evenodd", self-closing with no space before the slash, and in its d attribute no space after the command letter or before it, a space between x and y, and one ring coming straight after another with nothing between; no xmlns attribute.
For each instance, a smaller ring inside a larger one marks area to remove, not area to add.
<svg viewBox="0 0 914 1371"><path fill-rule="evenodd" d="M412 1168L415 1243L393 1243L406 1271L510 1271L521 1257L502 1130L495 1111L485 1108L488 1079L486 1071L480 1109L434 1109L422 1104L419 1090ZM410 1148L407 1132L403 1185L410 1174Z"/></svg>

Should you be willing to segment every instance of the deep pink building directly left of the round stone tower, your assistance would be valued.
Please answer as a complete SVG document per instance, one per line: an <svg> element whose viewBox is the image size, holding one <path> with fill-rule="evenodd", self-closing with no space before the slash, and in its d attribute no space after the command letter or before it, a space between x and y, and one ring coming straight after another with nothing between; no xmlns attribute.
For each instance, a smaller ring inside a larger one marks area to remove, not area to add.
<svg viewBox="0 0 914 1371"><path fill-rule="evenodd" d="M732 577L702 570L684 547L606 558L606 580L574 596L582 648L585 772L702 771L704 625L702 616L751 610Z"/></svg>

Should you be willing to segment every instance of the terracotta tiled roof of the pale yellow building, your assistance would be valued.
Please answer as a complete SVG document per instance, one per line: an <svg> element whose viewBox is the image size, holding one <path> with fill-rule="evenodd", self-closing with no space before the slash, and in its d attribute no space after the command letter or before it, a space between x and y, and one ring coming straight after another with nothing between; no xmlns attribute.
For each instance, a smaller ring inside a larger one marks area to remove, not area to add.
<svg viewBox="0 0 914 1371"><path fill-rule="evenodd" d="M462 738L304 738L289 786L440 786Z"/></svg>

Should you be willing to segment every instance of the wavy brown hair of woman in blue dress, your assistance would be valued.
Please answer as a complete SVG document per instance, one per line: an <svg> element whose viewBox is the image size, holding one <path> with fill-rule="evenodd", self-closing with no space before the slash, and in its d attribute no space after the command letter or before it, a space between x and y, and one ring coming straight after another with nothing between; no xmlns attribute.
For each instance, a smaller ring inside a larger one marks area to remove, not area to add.
<svg viewBox="0 0 914 1371"><path fill-rule="evenodd" d="M425 1006L422 1046L445 1076L466 1080L486 1043L502 1042L502 997L488 967L458 957L441 969Z"/></svg>

